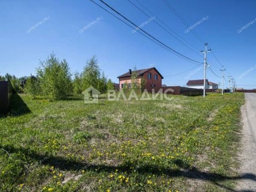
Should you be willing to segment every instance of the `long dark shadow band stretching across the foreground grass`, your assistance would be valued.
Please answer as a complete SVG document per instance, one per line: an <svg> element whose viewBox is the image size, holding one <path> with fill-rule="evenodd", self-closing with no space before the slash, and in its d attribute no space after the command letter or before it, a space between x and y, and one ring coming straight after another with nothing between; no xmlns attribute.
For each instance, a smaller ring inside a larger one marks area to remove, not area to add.
<svg viewBox="0 0 256 192"><path fill-rule="evenodd" d="M110 166L110 165L92 165L92 164L87 164L83 162L77 162L69 159L65 159L63 157L58 157L58 156L52 156L52 155L41 155L36 153L36 151L26 149L26 148L15 148L10 145L2 146L0 145L0 148L4 149L7 151L9 154L12 153L22 153L25 154L28 158L34 159L35 161L41 162L43 165L49 165L49 166L54 166L62 171L81 171L81 170L91 170L94 172L114 172L116 169L119 171L126 171L127 173L132 173L134 170L130 169L130 166L134 164L128 164L125 166ZM43 159L43 161L42 161ZM179 166L185 166L183 168L186 169L187 164L179 160L177 163ZM199 171L196 167L193 167L190 170L172 170L172 169L165 169L163 167L157 167L157 166L150 166L150 165L135 165L135 167L138 167L136 171L140 174L156 174L156 175L162 175L165 174L169 177L183 177L183 178L188 178L188 179L196 179L196 180L203 180L203 181L210 181L214 183L215 185L225 188L229 191L236 191L232 188L226 187L221 185L219 182L221 181L226 181L226 180L241 180L241 179L248 179L248 180L253 180L256 181L256 175L252 173L246 173L243 175L238 175L238 176L227 176L227 175L222 175L218 173L210 173L210 172L204 172L204 171ZM97 169L97 171L95 171ZM250 192L250 190L244 190L247 192Z"/></svg>

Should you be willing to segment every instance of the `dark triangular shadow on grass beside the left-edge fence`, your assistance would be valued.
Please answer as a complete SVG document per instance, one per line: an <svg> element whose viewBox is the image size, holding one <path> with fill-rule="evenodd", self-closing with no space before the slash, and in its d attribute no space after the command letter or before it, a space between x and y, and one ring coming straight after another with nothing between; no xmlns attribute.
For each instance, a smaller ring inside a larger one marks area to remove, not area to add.
<svg viewBox="0 0 256 192"><path fill-rule="evenodd" d="M27 104L21 99L20 95L17 93L13 93L10 101L10 110L6 115L1 114L0 117L7 116L20 116L27 113L30 113L30 109Z"/></svg>

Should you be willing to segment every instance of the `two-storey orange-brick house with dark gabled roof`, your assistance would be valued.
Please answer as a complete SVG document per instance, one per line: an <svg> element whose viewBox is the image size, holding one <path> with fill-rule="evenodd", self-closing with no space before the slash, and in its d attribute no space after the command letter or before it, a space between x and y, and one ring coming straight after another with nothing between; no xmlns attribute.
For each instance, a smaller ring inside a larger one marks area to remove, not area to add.
<svg viewBox="0 0 256 192"><path fill-rule="evenodd" d="M123 75L118 76L119 78L119 89L122 90L124 86L127 86L128 88L131 87L132 83L132 73L137 73L138 77L138 83L141 83L142 77L146 80L145 89L148 92L151 92L153 89L155 91L158 91L162 87L162 79L164 78L158 70L153 68L147 68L147 69L140 69L136 71L132 71L129 69L129 71Z"/></svg>

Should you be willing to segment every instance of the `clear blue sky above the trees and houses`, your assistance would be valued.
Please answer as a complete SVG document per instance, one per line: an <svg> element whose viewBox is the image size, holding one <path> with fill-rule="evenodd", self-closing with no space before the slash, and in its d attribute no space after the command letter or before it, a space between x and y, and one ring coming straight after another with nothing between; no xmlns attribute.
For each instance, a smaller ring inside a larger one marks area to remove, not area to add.
<svg viewBox="0 0 256 192"><path fill-rule="evenodd" d="M135 0L131 1L140 6ZM150 16L163 20L197 49L204 49L204 44L191 31L185 33L187 27L162 0L139 1L154 13ZM168 1L189 26L207 17L208 19L197 25L194 30L210 45L213 53L227 69L226 79L230 73L238 87L256 88L256 1ZM103 5L99 0L95 2ZM105 2L137 25L149 20L127 0ZM117 76L134 66L142 69L152 65L165 77L163 84L185 85L188 79L203 78L203 70L200 68L171 76L196 65L178 58L138 32L132 33L130 27L89 0L0 0L0 7L0 75L9 73L21 77L35 74L39 60L45 60L47 55L54 52L60 59L65 58L68 61L73 73L82 71L86 60L97 55L101 69L114 82L118 82ZM44 18L48 19L39 23ZM92 24L97 18L100 18L99 22ZM158 22L157 19L155 21ZM249 22L250 26L237 33ZM36 24L37 26L28 33ZM83 28L83 33L79 33ZM178 42L154 21L150 21L142 29L172 49L203 62L202 57ZM199 50L195 51L199 53ZM207 55L211 68L221 76L220 64L211 52ZM207 78L215 83L221 82L221 78L210 70L207 70ZM225 85L227 84L225 82Z"/></svg>

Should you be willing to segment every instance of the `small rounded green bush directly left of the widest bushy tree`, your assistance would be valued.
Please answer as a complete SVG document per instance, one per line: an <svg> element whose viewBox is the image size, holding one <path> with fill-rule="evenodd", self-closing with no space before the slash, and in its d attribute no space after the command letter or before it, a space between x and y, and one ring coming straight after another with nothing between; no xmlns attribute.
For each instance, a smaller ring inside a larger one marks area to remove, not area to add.
<svg viewBox="0 0 256 192"><path fill-rule="evenodd" d="M34 77L27 78L24 92L29 94L33 99L36 98L36 95L41 94L42 91L38 79Z"/></svg>

